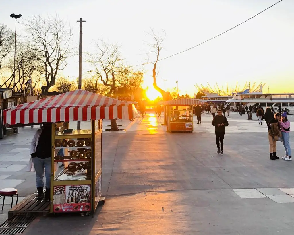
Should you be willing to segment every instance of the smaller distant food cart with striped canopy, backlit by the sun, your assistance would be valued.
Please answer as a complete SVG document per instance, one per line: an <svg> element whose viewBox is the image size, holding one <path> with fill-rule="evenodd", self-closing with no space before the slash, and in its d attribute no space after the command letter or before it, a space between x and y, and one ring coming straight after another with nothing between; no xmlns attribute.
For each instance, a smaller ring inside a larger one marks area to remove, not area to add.
<svg viewBox="0 0 294 235"><path fill-rule="evenodd" d="M176 99L162 102L166 110L167 132L193 132L193 105L201 102L196 99Z"/></svg>

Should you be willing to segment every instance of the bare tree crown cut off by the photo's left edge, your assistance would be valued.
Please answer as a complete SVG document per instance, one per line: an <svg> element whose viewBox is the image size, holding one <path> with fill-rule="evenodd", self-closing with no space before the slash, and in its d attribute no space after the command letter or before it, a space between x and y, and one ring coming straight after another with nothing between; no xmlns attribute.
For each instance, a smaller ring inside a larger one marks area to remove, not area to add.
<svg viewBox="0 0 294 235"><path fill-rule="evenodd" d="M5 24L0 24L0 69L3 59L11 52L14 33Z"/></svg>

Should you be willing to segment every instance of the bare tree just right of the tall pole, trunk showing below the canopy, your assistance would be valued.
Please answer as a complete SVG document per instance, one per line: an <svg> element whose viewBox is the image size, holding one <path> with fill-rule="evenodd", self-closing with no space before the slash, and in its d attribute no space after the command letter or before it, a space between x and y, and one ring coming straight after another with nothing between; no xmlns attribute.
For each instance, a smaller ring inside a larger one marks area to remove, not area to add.
<svg viewBox="0 0 294 235"><path fill-rule="evenodd" d="M109 87L106 94L112 96L116 94L116 76L121 73L128 73L127 68L123 68L123 59L121 58L120 46L117 44L108 44L100 40L96 43L97 52L90 55L90 62L103 85ZM111 131L118 131L116 119L110 120Z"/></svg>

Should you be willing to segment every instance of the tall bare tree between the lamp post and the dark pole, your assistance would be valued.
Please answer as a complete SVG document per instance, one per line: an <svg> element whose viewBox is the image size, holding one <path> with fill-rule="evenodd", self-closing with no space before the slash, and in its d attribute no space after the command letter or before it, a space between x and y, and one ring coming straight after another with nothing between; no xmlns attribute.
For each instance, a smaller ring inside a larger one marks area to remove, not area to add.
<svg viewBox="0 0 294 235"><path fill-rule="evenodd" d="M66 66L66 59L73 55L70 47L72 29L59 16L34 16L26 20L27 42L40 63L39 71L45 75L46 85L41 87L45 98L50 87L54 86L60 70Z"/></svg>

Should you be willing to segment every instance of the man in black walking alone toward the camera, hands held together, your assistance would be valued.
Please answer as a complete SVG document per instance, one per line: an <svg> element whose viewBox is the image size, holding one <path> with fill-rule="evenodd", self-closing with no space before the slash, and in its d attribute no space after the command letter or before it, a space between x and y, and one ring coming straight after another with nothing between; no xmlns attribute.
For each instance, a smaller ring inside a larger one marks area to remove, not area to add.
<svg viewBox="0 0 294 235"><path fill-rule="evenodd" d="M215 127L214 131L216 133L216 146L218 148L218 153L223 155L223 138L225 136L225 127L229 125L227 118L222 115L222 110L218 110L218 115L213 117L211 124Z"/></svg>

